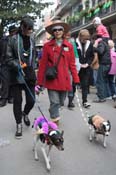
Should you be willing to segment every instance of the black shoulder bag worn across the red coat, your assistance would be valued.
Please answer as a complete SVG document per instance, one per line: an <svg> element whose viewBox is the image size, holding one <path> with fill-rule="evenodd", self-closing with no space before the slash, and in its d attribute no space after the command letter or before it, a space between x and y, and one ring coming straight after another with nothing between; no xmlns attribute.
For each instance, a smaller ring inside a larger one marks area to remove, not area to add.
<svg viewBox="0 0 116 175"><path fill-rule="evenodd" d="M63 51L63 46L61 46L61 51L60 51L60 54L59 54L59 57L58 57L56 64L53 66L47 66L46 80L54 80L55 78L57 78L57 75L58 75L57 66L60 62L62 51Z"/></svg>

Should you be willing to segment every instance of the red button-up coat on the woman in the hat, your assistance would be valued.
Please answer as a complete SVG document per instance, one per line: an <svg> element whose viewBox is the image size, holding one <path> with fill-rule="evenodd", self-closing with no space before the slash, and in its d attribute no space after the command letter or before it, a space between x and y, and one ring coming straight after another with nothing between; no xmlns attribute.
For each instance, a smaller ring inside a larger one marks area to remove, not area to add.
<svg viewBox="0 0 116 175"><path fill-rule="evenodd" d="M69 91L71 90L70 72L74 83L79 83L79 77L75 65L74 50L72 44L67 40L63 41L63 51L60 62L57 66L58 76L54 80L46 80L45 72L47 65L52 66L57 62L61 47L57 46L55 40L47 42L43 47L43 55L38 70L38 84L47 89Z"/></svg>

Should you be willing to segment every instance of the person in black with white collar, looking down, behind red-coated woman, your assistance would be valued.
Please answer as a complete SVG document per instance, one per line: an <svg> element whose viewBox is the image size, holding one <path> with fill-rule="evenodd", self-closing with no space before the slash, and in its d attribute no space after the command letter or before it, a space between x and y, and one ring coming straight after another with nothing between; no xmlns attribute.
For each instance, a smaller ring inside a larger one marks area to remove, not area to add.
<svg viewBox="0 0 116 175"><path fill-rule="evenodd" d="M79 54L79 62L81 69L79 71L80 83L82 88L82 105L85 108L90 107L90 104L87 102L87 94L89 87L89 79L91 68L90 65L94 58L93 45L90 42L90 34L86 29L80 30L78 38L76 40L77 51Z"/></svg>

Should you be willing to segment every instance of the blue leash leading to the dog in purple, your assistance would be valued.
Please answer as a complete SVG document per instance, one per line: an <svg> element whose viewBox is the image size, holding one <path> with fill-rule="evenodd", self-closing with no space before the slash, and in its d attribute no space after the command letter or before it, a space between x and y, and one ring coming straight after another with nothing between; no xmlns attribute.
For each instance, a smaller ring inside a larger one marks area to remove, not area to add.
<svg viewBox="0 0 116 175"><path fill-rule="evenodd" d="M27 85L27 83L26 83L26 81L25 81L25 79L24 79L25 74L24 74L24 72L23 72L23 69L22 69L21 65L19 65L18 74L19 74L19 78L21 78L21 79L23 80L24 85L25 85L25 87L27 88L27 90L28 90L30 96L32 97L33 101L34 101L36 104L39 103L39 101L38 101L37 99L35 99L34 95L32 94L32 92L31 92L29 86ZM48 120L46 119L46 117L45 117L44 113L42 112L40 106L37 105L37 107L38 107L40 113L42 114L42 116L44 117L45 121L48 123Z"/></svg>

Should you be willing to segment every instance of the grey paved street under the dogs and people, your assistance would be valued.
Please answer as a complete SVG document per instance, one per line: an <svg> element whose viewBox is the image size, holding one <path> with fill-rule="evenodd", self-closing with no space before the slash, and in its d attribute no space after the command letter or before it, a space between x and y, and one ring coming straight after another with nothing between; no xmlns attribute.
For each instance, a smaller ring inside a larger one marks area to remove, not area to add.
<svg viewBox="0 0 116 175"><path fill-rule="evenodd" d="M81 99L81 93L79 92ZM95 90L91 89L89 101L95 98ZM76 100L75 100L76 101ZM41 94L38 103L49 118L49 102L47 93ZM112 124L111 134L107 140L107 148L103 148L102 139L90 143L88 140L89 129L85 118L81 116L79 107L71 111L65 107L61 111L60 130L64 130L64 148L59 152L56 148L51 151L51 171L45 168L44 159L40 149L39 161L34 160L32 145L32 128L23 125L23 138L16 140L15 122L12 104L0 108L0 138L8 139L9 145L0 147L0 174L1 175L116 175L116 109L114 102L107 100L105 103L92 103L88 114L100 113L109 119ZM31 122L40 116L37 105L30 113Z"/></svg>

